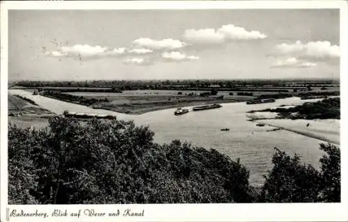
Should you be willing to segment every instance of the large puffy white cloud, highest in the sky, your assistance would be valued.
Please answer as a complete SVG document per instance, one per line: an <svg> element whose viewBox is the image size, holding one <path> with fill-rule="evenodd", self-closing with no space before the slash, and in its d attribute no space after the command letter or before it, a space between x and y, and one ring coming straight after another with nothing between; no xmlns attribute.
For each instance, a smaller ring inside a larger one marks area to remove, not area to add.
<svg viewBox="0 0 348 222"><path fill-rule="evenodd" d="M243 27L228 24L220 29L187 29L183 37L190 42L196 43L222 43L227 40L256 40L267 38L267 35L260 31L246 31Z"/></svg>

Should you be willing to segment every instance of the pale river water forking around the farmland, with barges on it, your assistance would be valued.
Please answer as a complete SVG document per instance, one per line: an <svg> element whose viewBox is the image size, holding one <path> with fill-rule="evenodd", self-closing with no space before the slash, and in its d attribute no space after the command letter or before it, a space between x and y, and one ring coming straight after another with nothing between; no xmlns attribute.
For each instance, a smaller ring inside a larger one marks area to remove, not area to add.
<svg viewBox="0 0 348 222"><path fill-rule="evenodd" d="M318 168L319 158L322 157L319 143L325 143L315 138L285 130L267 132L267 129L272 129L272 127L258 127L255 122L250 122L246 118L246 111L250 110L316 101L300 100L298 97L281 99L269 104L246 105L245 102L222 104L221 109L189 112L182 116L174 116L173 111L175 109L131 116L113 111L91 109L40 95L32 95L31 92L26 90L8 90L8 93L27 97L39 106L57 114L68 110L72 112L113 114L118 119L134 120L136 125L149 125L150 129L155 132L155 141L158 143L170 143L173 139L180 139L204 148L215 148L234 160L240 158L242 164L250 171L250 182L254 185L262 184L262 175L267 174L267 171L271 169L274 147L284 150L287 154L296 152L303 162ZM220 131L220 129L226 127L230 128L230 131Z"/></svg>

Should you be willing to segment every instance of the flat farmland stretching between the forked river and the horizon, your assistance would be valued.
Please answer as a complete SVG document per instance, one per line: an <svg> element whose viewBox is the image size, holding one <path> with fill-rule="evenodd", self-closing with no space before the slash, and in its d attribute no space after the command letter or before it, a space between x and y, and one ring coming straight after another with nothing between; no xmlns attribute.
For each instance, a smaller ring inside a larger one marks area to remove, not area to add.
<svg viewBox="0 0 348 222"><path fill-rule="evenodd" d="M120 113L141 114L177 106L246 102L306 95L339 95L333 80L22 81L21 88L54 99Z"/></svg>

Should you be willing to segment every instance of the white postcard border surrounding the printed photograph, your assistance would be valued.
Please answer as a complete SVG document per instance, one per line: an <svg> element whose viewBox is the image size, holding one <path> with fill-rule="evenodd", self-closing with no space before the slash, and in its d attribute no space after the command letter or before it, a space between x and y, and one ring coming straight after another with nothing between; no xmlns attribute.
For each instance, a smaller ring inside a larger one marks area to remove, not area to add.
<svg viewBox="0 0 348 222"><path fill-rule="evenodd" d="M342 202L340 204L202 204L202 205L7 205L7 85L8 85L8 10L10 9L242 9L242 8L340 8L340 79L346 85L347 73L347 2L345 1L5 1L1 2L1 221L6 221L6 207L15 209L39 209L52 212L53 209L93 208L95 211L112 212L116 209L145 209L145 217L130 218L88 218L83 221L348 221L347 188L347 140L341 136L342 159ZM345 101L348 88L341 87L341 101ZM347 103L341 106L341 135L347 135ZM56 221L52 217L49 221ZM82 221L61 218L60 221ZM40 218L11 218L10 221L43 221Z"/></svg>

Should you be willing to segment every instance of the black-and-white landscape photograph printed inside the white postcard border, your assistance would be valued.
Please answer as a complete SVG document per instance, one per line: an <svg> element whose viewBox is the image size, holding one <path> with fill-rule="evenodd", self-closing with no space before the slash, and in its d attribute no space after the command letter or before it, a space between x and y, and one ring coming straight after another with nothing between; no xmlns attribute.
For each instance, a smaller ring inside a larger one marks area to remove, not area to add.
<svg viewBox="0 0 348 222"><path fill-rule="evenodd" d="M340 187L340 10L8 11L8 204Z"/></svg>

